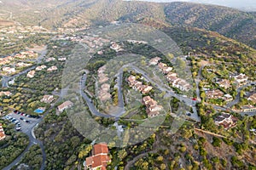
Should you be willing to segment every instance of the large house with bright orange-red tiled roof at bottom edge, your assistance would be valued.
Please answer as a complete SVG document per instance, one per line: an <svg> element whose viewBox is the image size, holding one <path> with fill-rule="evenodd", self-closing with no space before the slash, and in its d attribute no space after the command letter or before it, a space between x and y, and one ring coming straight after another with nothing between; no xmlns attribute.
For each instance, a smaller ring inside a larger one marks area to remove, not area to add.
<svg viewBox="0 0 256 170"><path fill-rule="evenodd" d="M84 170L106 170L108 162L111 162L108 156L108 145L106 143L95 144L91 156L85 159Z"/></svg>

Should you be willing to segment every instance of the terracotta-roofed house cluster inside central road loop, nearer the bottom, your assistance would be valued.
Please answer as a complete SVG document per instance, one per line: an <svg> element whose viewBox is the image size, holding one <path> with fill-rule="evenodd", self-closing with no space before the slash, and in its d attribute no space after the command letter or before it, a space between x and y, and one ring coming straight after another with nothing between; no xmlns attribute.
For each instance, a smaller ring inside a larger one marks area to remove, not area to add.
<svg viewBox="0 0 256 170"><path fill-rule="evenodd" d="M150 96L143 97L143 105L146 105L146 112L148 117L154 117L160 115L160 111L162 111L163 106L158 105L157 102L152 99Z"/></svg>

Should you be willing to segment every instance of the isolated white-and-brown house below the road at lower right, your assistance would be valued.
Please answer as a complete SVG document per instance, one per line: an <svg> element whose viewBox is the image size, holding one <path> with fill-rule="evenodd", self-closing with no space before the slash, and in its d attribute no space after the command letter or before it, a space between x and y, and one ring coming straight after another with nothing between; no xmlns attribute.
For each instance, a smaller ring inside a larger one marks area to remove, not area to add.
<svg viewBox="0 0 256 170"><path fill-rule="evenodd" d="M225 129L236 126L237 118L228 113L222 113L215 118L215 124L223 126Z"/></svg>

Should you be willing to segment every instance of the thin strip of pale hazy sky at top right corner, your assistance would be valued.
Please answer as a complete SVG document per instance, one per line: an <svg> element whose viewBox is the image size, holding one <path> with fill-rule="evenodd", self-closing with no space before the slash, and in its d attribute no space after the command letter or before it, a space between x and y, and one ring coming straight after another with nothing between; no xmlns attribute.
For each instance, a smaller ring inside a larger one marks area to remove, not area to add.
<svg viewBox="0 0 256 170"><path fill-rule="evenodd" d="M231 8L243 8L247 10L256 11L256 0L142 0L158 3L166 2L192 2L192 3L211 3L216 5L227 6Z"/></svg>

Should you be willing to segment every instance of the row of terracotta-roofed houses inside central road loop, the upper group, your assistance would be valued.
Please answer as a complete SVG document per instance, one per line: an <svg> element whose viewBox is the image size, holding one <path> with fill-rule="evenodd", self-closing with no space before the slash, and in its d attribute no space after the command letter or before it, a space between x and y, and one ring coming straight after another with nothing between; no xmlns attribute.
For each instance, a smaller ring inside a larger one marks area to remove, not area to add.
<svg viewBox="0 0 256 170"><path fill-rule="evenodd" d="M131 88L136 89L143 94L148 94L153 89L152 86L143 85L143 82L137 81L134 76L128 77L127 80Z"/></svg>

